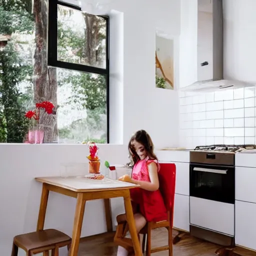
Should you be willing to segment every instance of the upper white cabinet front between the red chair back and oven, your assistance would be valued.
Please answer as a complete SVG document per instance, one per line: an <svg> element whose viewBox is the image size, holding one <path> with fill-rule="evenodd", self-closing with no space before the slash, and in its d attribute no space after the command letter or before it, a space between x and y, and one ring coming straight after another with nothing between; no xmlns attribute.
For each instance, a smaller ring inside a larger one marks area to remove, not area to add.
<svg viewBox="0 0 256 256"><path fill-rule="evenodd" d="M175 193L189 195L189 163L174 162L176 165Z"/></svg>

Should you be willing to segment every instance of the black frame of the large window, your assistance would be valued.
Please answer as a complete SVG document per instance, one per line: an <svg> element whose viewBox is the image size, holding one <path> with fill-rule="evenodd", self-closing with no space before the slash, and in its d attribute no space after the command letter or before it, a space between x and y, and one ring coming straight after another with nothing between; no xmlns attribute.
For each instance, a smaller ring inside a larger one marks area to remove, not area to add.
<svg viewBox="0 0 256 256"><path fill-rule="evenodd" d="M106 142L109 143L109 16L97 15L106 20L106 68L89 66L78 63L60 61L57 59L57 6L62 5L75 10L81 10L79 6L60 0L48 0L48 66L71 69L87 73L104 74L106 76Z"/></svg>

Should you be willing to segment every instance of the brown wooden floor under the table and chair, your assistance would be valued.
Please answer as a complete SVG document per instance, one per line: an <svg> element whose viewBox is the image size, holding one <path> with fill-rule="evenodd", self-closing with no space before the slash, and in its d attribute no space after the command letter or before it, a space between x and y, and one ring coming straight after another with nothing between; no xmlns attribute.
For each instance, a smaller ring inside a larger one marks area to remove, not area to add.
<svg viewBox="0 0 256 256"><path fill-rule="evenodd" d="M173 231L173 235L176 231ZM216 256L216 249L221 246L202 241L200 239L183 233L181 240L173 245L173 256ZM152 233L152 246L161 246L167 244L167 232L165 229L156 229ZM116 256L116 246L113 243L113 233L96 235L85 238L79 246L79 256ZM256 256L256 252L235 248L234 252L238 254L223 254L220 256ZM152 253L152 256L165 256L168 251Z"/></svg>

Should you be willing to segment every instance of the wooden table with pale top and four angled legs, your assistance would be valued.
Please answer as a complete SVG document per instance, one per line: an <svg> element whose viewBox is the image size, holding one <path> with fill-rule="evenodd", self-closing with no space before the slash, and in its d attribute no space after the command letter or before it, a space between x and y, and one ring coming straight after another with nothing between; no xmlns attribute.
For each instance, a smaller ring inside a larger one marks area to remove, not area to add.
<svg viewBox="0 0 256 256"><path fill-rule="evenodd" d="M136 185L107 178L102 180L93 180L86 177L36 177L35 180L42 182L37 230L42 230L44 226L49 191L54 191L76 198L70 256L77 256L85 202L87 200L104 199L107 231L111 231L112 220L109 198L113 197L123 197L126 218L129 225L134 251L136 256L142 256L140 243L136 233L129 192L129 189Z"/></svg>

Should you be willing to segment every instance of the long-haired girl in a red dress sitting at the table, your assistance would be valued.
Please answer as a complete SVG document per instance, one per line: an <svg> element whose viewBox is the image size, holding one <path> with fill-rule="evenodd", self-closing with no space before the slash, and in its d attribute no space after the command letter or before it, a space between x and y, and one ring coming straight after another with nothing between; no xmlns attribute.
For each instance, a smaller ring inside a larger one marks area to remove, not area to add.
<svg viewBox="0 0 256 256"><path fill-rule="evenodd" d="M130 189L133 213L137 233L146 221L162 221L167 219L167 211L159 190L159 163L153 152L153 143L145 130L138 130L130 138L129 157L133 165L131 177L124 175L119 180L138 184ZM125 214L118 216L118 221L125 220ZM118 247L117 256L127 256L128 251Z"/></svg>

